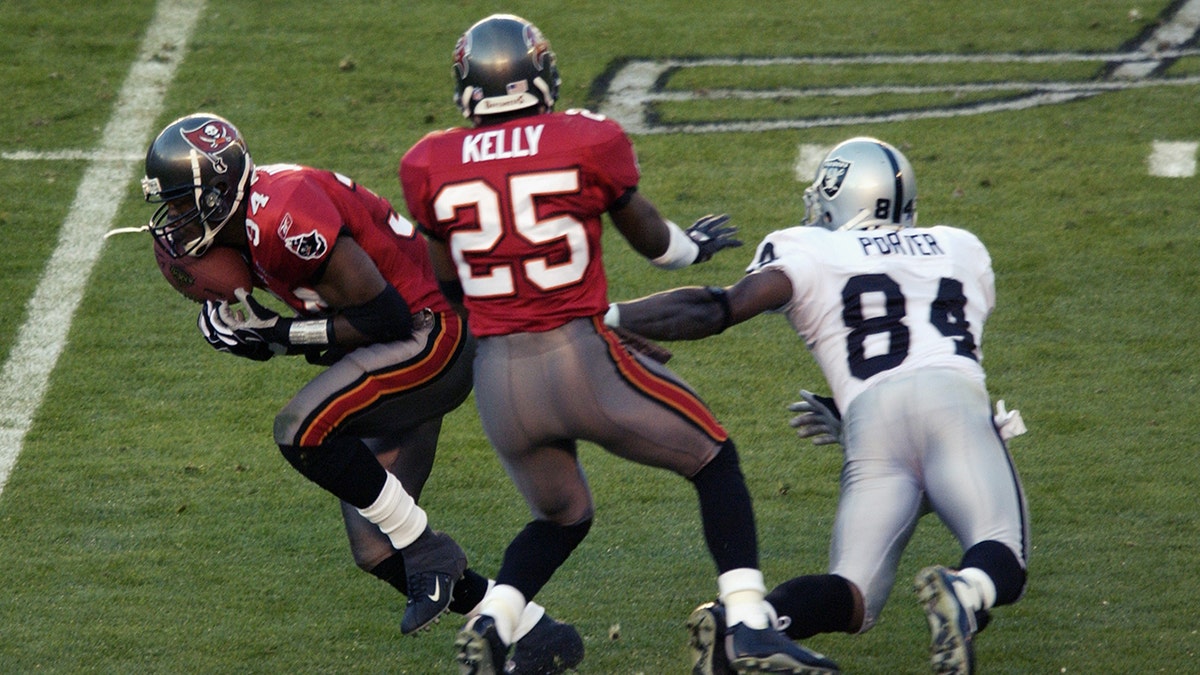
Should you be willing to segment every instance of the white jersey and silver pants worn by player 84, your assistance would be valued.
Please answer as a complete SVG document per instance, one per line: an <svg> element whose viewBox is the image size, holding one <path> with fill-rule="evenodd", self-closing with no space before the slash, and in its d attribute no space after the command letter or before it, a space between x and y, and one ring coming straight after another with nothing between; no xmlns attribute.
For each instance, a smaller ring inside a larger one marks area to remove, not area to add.
<svg viewBox="0 0 1200 675"><path fill-rule="evenodd" d="M926 509L966 551L1000 542L1024 567L1028 513L992 424L979 350L995 304L991 258L954 227L769 234L749 273L780 269L780 312L804 338L842 413L841 496L829 573L880 616Z"/></svg>

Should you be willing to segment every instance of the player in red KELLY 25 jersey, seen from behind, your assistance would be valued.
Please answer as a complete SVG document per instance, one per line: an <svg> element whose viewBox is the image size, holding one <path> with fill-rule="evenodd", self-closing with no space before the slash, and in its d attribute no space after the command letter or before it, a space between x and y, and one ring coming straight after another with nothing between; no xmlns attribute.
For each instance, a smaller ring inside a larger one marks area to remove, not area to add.
<svg viewBox="0 0 1200 675"><path fill-rule="evenodd" d="M666 269L740 245L733 228L725 216L686 232L665 220L637 191L637 161L617 123L553 112L554 53L529 22L475 23L455 48L454 74L472 126L427 135L404 155L400 178L443 291L462 301L479 339L484 430L533 514L480 616L458 634L462 671L503 671L524 607L587 534L581 440L695 485L734 669L836 671L770 628L750 495L725 429L685 382L626 351L604 323L604 214Z"/></svg>

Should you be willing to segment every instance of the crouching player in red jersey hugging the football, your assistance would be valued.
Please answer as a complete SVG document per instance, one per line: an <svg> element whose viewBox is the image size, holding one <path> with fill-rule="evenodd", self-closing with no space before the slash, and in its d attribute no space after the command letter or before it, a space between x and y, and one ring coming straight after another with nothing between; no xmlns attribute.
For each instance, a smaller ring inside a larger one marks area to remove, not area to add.
<svg viewBox="0 0 1200 675"><path fill-rule="evenodd" d="M488 579L416 504L443 416L470 392L475 340L438 289L413 225L344 175L256 166L241 133L208 113L158 135L143 191L161 204L149 229L172 255L236 247L254 285L295 312L283 317L241 291L240 309L206 301L198 323L211 346L329 366L276 416L275 442L342 501L359 567L408 596L401 631L476 611ZM582 659L572 627L536 605L521 621L517 673L545 673L556 656Z"/></svg>

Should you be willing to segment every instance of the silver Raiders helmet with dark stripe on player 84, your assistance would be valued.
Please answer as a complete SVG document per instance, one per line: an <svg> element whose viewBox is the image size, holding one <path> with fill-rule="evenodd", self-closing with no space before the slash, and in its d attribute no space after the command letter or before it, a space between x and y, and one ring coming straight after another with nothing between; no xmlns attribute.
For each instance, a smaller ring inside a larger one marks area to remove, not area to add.
<svg viewBox="0 0 1200 675"><path fill-rule="evenodd" d="M868 137L839 143L804 191L804 225L827 229L917 225L917 177L904 153Z"/></svg>

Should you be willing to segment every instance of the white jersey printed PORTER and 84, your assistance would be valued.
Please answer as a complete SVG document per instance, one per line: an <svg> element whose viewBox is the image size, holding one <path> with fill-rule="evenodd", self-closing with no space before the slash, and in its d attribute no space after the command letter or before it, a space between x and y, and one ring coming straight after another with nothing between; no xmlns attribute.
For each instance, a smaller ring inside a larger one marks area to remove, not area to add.
<svg viewBox="0 0 1200 675"><path fill-rule="evenodd" d="M995 306L991 257L955 227L767 235L746 269L792 280L785 313L824 372L838 406L899 374L948 368L980 384L983 324Z"/></svg>

